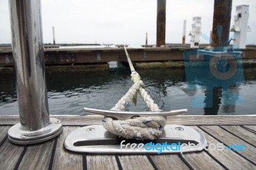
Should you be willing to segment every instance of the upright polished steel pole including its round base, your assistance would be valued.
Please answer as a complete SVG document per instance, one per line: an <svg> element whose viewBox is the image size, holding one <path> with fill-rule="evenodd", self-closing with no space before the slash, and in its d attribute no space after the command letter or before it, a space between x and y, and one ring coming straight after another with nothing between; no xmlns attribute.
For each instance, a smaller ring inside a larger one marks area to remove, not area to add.
<svg viewBox="0 0 256 170"><path fill-rule="evenodd" d="M8 131L12 143L28 145L54 138L61 121L49 118L45 87L40 0L10 0L12 50L20 123Z"/></svg>

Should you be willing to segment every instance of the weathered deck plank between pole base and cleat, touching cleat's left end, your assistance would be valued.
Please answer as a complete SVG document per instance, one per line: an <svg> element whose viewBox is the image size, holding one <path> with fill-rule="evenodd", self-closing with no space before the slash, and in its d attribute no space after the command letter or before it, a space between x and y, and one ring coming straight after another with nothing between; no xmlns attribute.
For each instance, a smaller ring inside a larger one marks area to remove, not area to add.
<svg viewBox="0 0 256 170"><path fill-rule="evenodd" d="M83 169L83 157L79 153L69 152L63 146L68 134L79 126L64 126L63 132L58 136L52 169Z"/></svg>

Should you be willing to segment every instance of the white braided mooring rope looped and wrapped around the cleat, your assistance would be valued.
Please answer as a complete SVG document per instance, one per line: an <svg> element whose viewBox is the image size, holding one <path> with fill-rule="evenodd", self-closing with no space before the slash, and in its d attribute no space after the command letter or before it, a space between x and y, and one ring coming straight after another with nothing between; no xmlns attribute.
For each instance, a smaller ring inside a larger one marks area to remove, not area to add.
<svg viewBox="0 0 256 170"><path fill-rule="evenodd" d="M157 104L154 103L153 99L148 95L145 90L145 85L140 78L140 75L135 71L132 66L131 59L127 53L124 46L124 50L129 62L131 69L131 80L134 83L128 92L123 96L118 103L115 104L111 110L121 111L124 110L125 106L132 101L132 98L136 95L138 91L143 101L147 104L150 111L161 111L159 110ZM161 136L163 127L166 124L165 117L137 117L127 120L113 120L110 117L104 117L102 124L108 131L113 134L123 137L126 139L151 139L154 140L158 136Z"/></svg>

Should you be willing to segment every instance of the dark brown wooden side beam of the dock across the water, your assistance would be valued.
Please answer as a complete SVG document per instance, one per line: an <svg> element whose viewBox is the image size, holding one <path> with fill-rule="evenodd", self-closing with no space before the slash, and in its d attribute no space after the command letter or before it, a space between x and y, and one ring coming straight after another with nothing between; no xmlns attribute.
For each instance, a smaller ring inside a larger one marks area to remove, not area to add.
<svg viewBox="0 0 256 170"><path fill-rule="evenodd" d="M205 46L200 46L204 48ZM195 50L189 47L168 48L127 48L132 62L154 61L183 61L183 52ZM256 46L247 46L241 49L244 60L256 59ZM126 62L125 52L122 48L46 48L44 52L46 65L76 65L100 62L118 61ZM12 50L0 50L0 67L13 66Z"/></svg>

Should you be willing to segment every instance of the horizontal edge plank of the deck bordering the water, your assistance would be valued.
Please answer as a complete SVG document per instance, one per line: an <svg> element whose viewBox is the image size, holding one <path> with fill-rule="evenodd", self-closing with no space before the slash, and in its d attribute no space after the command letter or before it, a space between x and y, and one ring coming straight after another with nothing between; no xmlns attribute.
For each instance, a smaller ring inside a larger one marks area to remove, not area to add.
<svg viewBox="0 0 256 170"><path fill-rule="evenodd" d="M63 125L99 125L102 124L102 116L54 116L59 118ZM19 123L19 116L0 116L0 125L14 125ZM180 125L256 125L255 115L234 116L192 116L179 115L168 117L166 124Z"/></svg>

